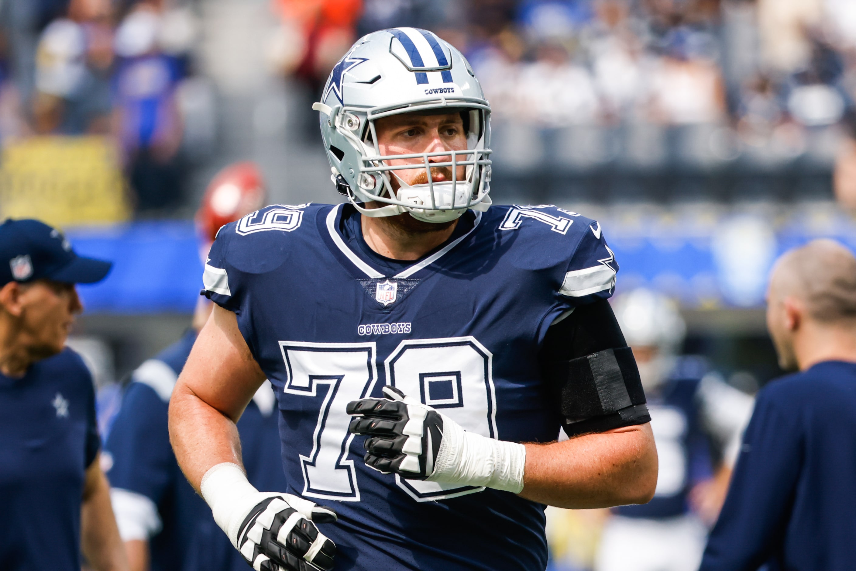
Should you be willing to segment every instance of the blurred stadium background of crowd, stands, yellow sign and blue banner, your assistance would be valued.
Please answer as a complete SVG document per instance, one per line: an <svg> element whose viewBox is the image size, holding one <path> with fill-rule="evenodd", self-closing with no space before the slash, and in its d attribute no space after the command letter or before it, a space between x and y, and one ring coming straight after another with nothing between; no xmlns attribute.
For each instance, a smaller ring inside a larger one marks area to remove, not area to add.
<svg viewBox="0 0 856 571"><path fill-rule="evenodd" d="M596 218L617 293L675 301L699 376L752 394L781 373L770 265L816 237L856 247L853 0L0 0L0 216L116 261L80 288L70 342L104 430L128 373L189 325L212 175L252 160L270 203L338 200L311 104L355 39L394 26L472 63L495 202ZM556 568L591 564L605 515L578 516Z"/></svg>

